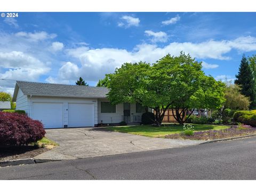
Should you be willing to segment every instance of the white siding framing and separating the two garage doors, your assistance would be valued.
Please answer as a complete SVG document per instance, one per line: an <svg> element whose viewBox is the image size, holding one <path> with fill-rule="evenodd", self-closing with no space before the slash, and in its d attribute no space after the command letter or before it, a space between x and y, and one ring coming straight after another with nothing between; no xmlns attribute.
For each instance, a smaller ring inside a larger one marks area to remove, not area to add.
<svg viewBox="0 0 256 192"><path fill-rule="evenodd" d="M98 124L98 99L87 98L60 98L60 97L36 97L30 99L30 105L33 102L58 102L63 103L63 125L68 125L68 103L91 103L94 108L94 124ZM33 118L33 110L31 109L31 118Z"/></svg>

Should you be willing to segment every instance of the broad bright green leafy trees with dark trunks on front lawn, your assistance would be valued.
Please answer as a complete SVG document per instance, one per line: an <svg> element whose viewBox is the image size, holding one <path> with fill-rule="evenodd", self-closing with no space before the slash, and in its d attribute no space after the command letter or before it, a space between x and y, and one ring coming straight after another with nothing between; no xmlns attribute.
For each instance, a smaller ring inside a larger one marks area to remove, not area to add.
<svg viewBox="0 0 256 192"><path fill-rule="evenodd" d="M219 108L224 102L223 83L205 76L200 62L181 52L149 63L124 63L110 76L108 98L112 103L139 102L155 110L161 125L167 109L183 124L191 108ZM187 117L191 115L193 110Z"/></svg>

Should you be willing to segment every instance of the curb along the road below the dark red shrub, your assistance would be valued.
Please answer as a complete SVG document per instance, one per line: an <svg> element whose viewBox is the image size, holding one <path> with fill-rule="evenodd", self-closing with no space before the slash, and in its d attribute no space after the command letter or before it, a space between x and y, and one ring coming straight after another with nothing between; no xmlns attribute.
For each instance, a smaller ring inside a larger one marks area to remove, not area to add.
<svg viewBox="0 0 256 192"><path fill-rule="evenodd" d="M34 159L34 158L26 158L26 159L17 159L12 161L0 162L0 167L11 166L11 165L25 165L25 164L33 164L33 163L45 163L45 162L54 162L61 160L52 160L52 159Z"/></svg>

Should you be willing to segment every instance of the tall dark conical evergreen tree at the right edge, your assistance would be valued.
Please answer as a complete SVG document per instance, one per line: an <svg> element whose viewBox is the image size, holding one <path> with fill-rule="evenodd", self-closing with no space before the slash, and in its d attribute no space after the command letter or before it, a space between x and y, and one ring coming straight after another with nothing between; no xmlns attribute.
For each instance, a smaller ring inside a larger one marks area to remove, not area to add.
<svg viewBox="0 0 256 192"><path fill-rule="evenodd" d="M254 82L253 82L253 74L251 67L249 66L249 62L246 59L245 55L241 60L241 64L239 67L238 75L236 75L235 84L241 86L241 93L250 98L251 105L250 108L254 108L255 104L255 91L254 91Z"/></svg>

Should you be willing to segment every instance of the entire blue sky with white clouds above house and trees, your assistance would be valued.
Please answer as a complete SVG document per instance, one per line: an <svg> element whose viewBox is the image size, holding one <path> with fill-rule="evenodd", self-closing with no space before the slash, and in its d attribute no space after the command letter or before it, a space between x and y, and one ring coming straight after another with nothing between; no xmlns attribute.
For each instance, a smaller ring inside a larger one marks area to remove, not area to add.
<svg viewBox="0 0 256 192"><path fill-rule="evenodd" d="M0 18L0 78L95 86L124 62L190 53L206 75L231 79L256 53L256 13L19 13ZM12 92L14 81L0 80Z"/></svg>

